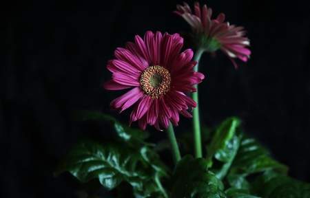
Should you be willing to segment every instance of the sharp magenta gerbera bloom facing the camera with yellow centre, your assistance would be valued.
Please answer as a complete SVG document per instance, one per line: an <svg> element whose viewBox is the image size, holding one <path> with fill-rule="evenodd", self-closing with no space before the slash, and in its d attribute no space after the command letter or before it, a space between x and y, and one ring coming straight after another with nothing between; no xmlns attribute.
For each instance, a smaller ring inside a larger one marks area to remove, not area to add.
<svg viewBox="0 0 310 198"><path fill-rule="evenodd" d="M161 34L147 32L144 41L135 36L136 43L126 43L126 49L115 50L117 59L107 62L107 69L112 72L112 80L103 85L105 89L118 90L133 87L123 96L114 99L112 110L123 111L136 103L130 115L130 124L138 120L141 129L147 124L156 129L167 128L169 121L178 125L179 115L192 118L186 109L197 104L183 92L196 91L196 85L204 78L194 72L197 64L191 61L192 50L179 54L183 38L179 34Z"/></svg>

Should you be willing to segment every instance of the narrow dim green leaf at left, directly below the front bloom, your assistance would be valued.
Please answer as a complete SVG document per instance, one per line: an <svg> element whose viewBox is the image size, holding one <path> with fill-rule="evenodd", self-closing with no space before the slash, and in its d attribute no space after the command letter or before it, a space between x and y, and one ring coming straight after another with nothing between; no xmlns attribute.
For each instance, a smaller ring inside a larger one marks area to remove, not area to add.
<svg viewBox="0 0 310 198"><path fill-rule="evenodd" d="M103 120L112 125L114 131L116 132L116 140L121 140L128 142L132 147L137 147L145 145L147 143L143 142L145 138L148 137L147 131L142 131L140 129L133 129L127 126L127 124L121 124L111 115L106 115L104 113L99 113L96 111L76 111L71 116L72 120ZM136 145L138 144L138 145ZM149 145L149 144L147 144Z"/></svg>

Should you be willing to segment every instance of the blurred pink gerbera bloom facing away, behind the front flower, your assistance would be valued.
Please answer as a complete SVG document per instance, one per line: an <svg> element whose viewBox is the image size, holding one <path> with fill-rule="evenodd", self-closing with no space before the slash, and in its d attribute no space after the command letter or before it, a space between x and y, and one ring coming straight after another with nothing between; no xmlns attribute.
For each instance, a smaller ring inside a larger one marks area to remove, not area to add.
<svg viewBox="0 0 310 198"><path fill-rule="evenodd" d="M216 19L211 19L212 10L203 5L203 12L200 11L198 2L194 3L195 14L187 3L184 6L176 5L178 11L174 11L191 25L194 32L194 42L198 47L203 47L206 52L215 52L222 50L234 63L237 64L233 58L240 58L247 62L251 51L246 46L249 46L249 39L242 37L247 33L243 27L236 27L236 25L229 25L224 23L225 14L218 14Z"/></svg>

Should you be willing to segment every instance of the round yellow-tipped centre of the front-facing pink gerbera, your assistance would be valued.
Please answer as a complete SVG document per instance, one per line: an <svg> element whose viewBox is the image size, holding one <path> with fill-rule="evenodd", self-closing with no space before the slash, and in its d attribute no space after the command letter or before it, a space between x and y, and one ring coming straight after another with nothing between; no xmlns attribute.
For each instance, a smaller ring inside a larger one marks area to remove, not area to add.
<svg viewBox="0 0 310 198"><path fill-rule="evenodd" d="M170 89L170 82L168 70L159 65L147 67L140 78L140 85L144 94L153 99L165 95Z"/></svg>

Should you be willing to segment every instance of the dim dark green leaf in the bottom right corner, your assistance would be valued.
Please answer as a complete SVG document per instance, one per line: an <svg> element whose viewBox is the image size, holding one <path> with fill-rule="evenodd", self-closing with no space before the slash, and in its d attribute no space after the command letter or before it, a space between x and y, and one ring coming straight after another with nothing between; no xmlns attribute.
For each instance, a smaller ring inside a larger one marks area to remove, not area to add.
<svg viewBox="0 0 310 198"><path fill-rule="evenodd" d="M310 184L284 174L268 172L253 183L253 192L263 198L310 197Z"/></svg>

